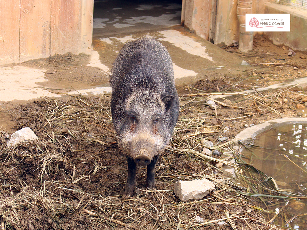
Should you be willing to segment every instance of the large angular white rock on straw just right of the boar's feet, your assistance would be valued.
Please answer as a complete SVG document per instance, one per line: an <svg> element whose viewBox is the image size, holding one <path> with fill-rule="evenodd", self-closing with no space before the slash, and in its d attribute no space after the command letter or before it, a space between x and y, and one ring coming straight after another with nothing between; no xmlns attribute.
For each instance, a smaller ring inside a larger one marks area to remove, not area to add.
<svg viewBox="0 0 307 230"><path fill-rule="evenodd" d="M183 202L188 200L201 200L208 195L215 185L206 179L193 181L176 181L174 183L175 195Z"/></svg>

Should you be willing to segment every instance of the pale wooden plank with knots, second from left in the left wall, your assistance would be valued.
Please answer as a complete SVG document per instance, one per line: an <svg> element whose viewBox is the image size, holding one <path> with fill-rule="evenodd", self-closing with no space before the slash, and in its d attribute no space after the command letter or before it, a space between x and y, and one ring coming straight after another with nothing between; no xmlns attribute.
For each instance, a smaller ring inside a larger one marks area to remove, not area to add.
<svg viewBox="0 0 307 230"><path fill-rule="evenodd" d="M49 57L51 0L20 3L20 61Z"/></svg>

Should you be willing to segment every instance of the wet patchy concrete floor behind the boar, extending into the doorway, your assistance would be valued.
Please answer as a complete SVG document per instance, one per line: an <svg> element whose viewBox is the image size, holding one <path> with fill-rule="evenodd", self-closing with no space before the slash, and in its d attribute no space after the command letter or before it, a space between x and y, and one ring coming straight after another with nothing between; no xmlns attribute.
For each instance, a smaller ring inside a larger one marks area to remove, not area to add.
<svg viewBox="0 0 307 230"><path fill-rule="evenodd" d="M212 73L238 74L246 62L203 40L180 26L180 1L95 0L93 50L89 66L99 67L107 76L122 46L139 37L153 37L167 47L173 60L177 86ZM59 97L49 92L46 70L23 66L0 66L0 102L30 100L40 96ZM44 83L44 88L41 87ZM64 81L63 81L64 84ZM67 86L67 85L65 85ZM111 92L108 83L84 86L69 94Z"/></svg>

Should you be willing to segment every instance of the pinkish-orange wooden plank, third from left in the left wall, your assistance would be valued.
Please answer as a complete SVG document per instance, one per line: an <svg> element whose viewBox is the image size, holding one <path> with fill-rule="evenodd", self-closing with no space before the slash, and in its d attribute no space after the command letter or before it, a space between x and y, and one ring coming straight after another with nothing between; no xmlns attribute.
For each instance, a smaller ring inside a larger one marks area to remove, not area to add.
<svg viewBox="0 0 307 230"><path fill-rule="evenodd" d="M52 0L50 54L80 53L81 0Z"/></svg>

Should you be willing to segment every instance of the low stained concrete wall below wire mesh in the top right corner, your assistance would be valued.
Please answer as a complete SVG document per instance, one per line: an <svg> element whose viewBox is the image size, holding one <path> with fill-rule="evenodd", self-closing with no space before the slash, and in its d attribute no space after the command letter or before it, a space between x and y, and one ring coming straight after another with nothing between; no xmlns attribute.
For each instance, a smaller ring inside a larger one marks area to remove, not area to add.
<svg viewBox="0 0 307 230"><path fill-rule="evenodd" d="M267 3L266 14L290 14L290 32L264 32L275 45L286 45L293 50L307 51L307 11L290 6ZM305 13L305 14L303 14Z"/></svg>

